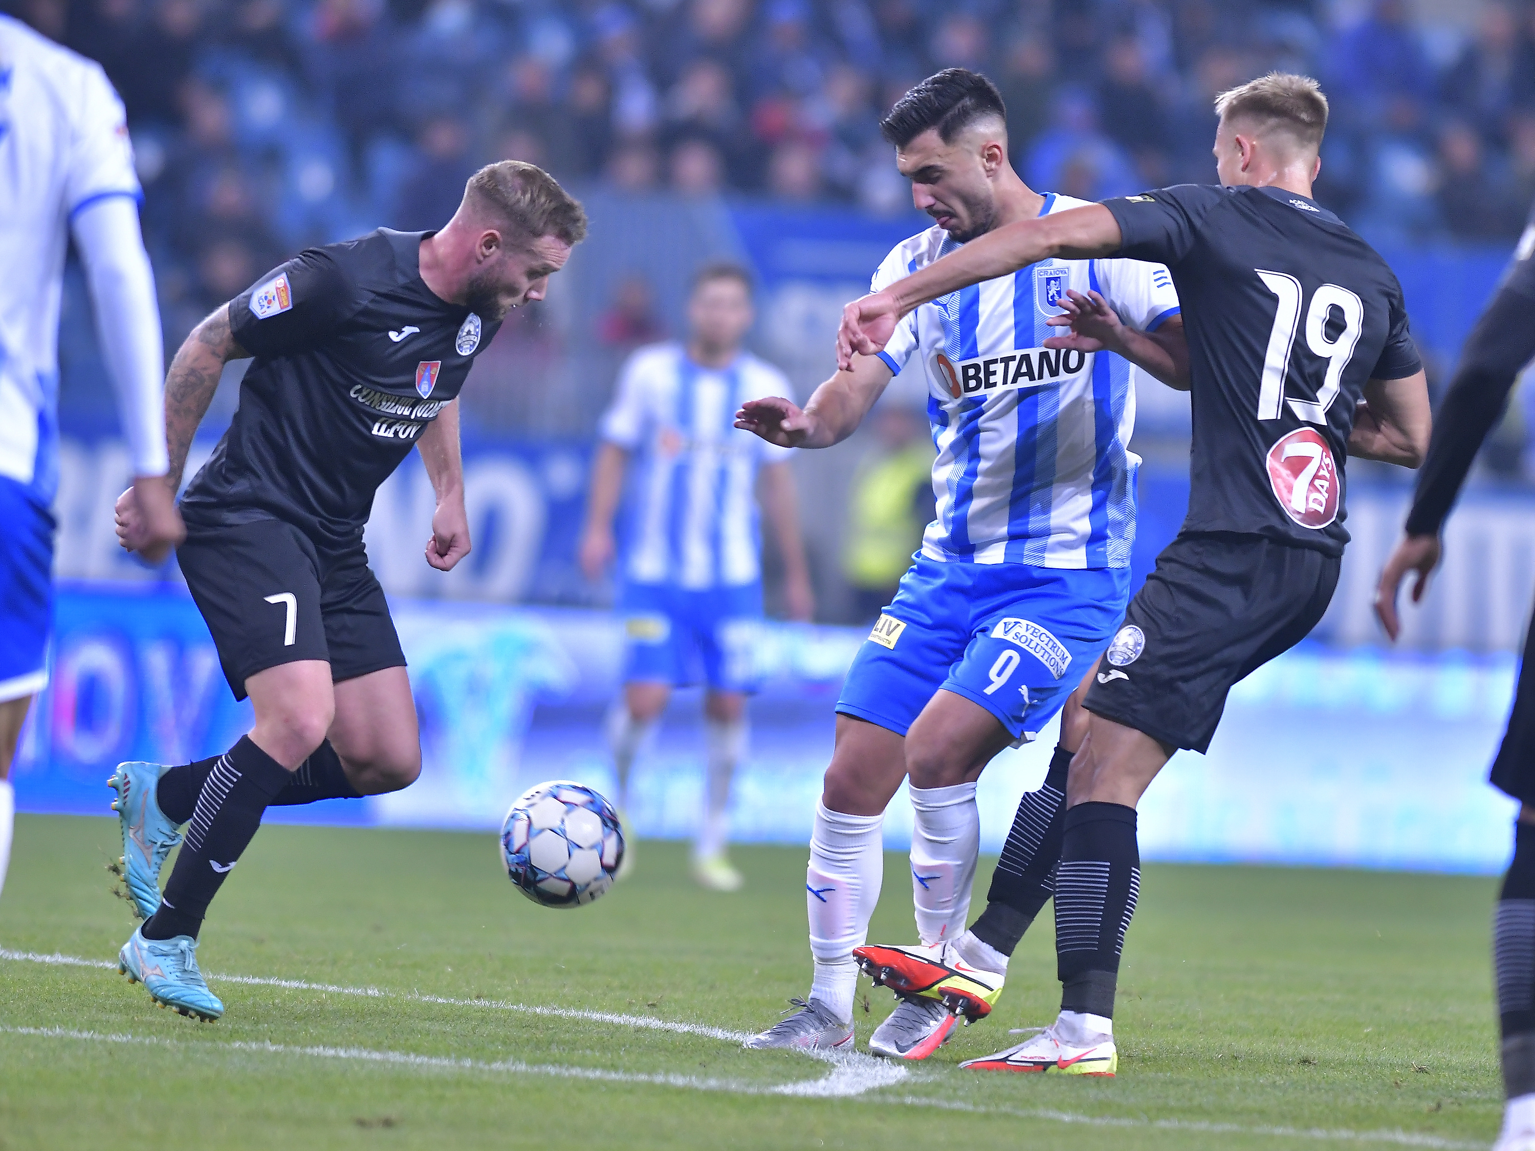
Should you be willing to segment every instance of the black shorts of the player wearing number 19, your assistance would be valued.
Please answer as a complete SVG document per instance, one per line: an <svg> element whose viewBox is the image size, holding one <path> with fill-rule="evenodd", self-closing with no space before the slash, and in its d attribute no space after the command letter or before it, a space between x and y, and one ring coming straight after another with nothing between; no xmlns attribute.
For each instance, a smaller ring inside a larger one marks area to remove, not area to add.
<svg viewBox="0 0 1535 1151"><path fill-rule="evenodd" d="M1203 754L1226 692L1317 626L1340 566L1263 536L1179 536L1130 600L1087 709Z"/></svg>

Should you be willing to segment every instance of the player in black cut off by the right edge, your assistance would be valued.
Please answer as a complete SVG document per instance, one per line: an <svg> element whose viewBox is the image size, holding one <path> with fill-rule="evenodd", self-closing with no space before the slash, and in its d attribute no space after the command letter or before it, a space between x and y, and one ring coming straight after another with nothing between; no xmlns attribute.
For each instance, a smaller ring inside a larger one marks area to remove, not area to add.
<svg viewBox="0 0 1535 1151"><path fill-rule="evenodd" d="M1535 210L1514 252L1514 264L1466 339L1460 370L1440 405L1429 454L1418 473L1406 531L1380 576L1375 611L1392 640L1401 632L1397 589L1414 571L1412 600L1423 599L1429 572L1440 562L1444 520L1530 358L1535 358ZM1494 1151L1535 1151L1535 626L1524 637L1514 712L1492 761L1492 786L1520 801L1514 861L1492 921L1507 1097Z"/></svg>

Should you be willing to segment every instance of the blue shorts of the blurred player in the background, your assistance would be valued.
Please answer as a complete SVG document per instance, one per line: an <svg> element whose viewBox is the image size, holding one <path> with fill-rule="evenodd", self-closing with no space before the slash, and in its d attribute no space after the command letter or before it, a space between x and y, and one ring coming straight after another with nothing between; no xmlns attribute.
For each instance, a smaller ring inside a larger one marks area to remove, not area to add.
<svg viewBox="0 0 1535 1151"><path fill-rule="evenodd" d="M703 681L714 691L758 686L760 583L691 591L665 583L631 583L619 600L626 655L625 683Z"/></svg>

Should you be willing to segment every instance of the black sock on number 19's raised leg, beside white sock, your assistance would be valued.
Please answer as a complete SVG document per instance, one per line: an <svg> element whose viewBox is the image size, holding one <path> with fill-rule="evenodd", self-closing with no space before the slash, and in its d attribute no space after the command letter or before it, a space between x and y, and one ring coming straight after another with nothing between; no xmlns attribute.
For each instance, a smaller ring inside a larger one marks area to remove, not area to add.
<svg viewBox="0 0 1535 1151"><path fill-rule="evenodd" d="M1055 893L1071 755L1065 747L1056 747L1039 790L1024 793L1002 844L1002 858L992 873L985 910L970 924L976 939L1002 955L1013 953L1039 909Z"/></svg>

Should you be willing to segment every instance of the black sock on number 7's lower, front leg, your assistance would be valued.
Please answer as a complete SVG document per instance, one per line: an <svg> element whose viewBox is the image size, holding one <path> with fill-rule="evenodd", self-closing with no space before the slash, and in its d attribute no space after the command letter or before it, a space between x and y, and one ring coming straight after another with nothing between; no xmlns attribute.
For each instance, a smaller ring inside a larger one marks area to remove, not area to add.
<svg viewBox="0 0 1535 1151"><path fill-rule="evenodd" d="M289 777L287 767L256 747L249 735L218 758L198 792L160 910L144 924L146 939L196 938L209 902Z"/></svg>

